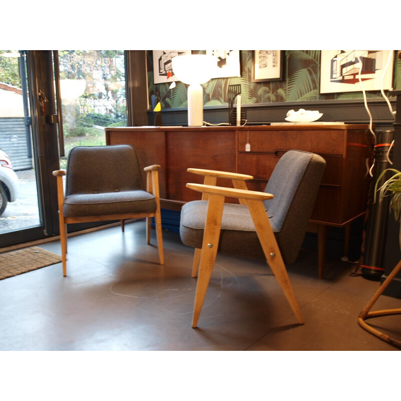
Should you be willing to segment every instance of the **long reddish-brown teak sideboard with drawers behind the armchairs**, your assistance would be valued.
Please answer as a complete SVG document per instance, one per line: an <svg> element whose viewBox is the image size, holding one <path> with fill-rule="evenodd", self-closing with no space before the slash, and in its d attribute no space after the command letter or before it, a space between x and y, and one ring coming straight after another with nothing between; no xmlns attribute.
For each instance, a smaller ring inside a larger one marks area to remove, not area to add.
<svg viewBox="0 0 401 401"><path fill-rule="evenodd" d="M326 160L326 169L309 228L318 233L319 277L323 275L327 226L345 227L347 254L350 223L362 216L367 206L372 148L367 125L108 127L106 143L134 146L141 167L161 165L161 205L171 210L180 210L185 202L200 198L199 192L185 187L187 182L202 180L188 173L188 167L250 174L254 179L248 181L249 189L263 191L287 150L320 154ZM218 185L231 183L221 180Z"/></svg>

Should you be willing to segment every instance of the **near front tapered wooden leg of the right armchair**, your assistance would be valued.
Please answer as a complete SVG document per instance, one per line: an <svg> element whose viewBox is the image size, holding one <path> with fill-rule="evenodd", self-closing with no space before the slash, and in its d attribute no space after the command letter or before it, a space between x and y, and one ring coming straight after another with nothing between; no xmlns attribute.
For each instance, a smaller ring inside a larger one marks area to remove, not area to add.
<svg viewBox="0 0 401 401"><path fill-rule="evenodd" d="M224 196L210 194L193 305L192 327L197 326L219 248Z"/></svg>

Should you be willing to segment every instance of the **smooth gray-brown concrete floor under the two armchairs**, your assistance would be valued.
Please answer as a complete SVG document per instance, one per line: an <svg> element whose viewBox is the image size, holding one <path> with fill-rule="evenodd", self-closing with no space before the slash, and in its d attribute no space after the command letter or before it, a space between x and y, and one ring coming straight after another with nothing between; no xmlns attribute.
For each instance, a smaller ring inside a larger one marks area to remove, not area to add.
<svg viewBox="0 0 401 401"><path fill-rule="evenodd" d="M67 277L56 264L0 281L0 350L397 350L357 323L378 283L350 275L353 265L338 255L327 255L318 279L317 252L307 249L288 266L303 326L263 261L219 254L193 329L193 251L176 233L163 231L163 240L164 266L141 221L125 233L71 237ZM58 241L40 246L60 254ZM399 307L381 296L373 309ZM401 338L399 315L369 321Z"/></svg>

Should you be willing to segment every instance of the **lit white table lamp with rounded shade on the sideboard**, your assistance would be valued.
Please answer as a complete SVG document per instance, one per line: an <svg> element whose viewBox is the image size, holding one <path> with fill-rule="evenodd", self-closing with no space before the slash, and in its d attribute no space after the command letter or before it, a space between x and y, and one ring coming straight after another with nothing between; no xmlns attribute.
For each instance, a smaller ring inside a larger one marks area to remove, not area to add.
<svg viewBox="0 0 401 401"><path fill-rule="evenodd" d="M172 59L176 78L188 86L188 126L201 127L204 123L204 96L200 84L216 75L217 59L205 54L177 56Z"/></svg>

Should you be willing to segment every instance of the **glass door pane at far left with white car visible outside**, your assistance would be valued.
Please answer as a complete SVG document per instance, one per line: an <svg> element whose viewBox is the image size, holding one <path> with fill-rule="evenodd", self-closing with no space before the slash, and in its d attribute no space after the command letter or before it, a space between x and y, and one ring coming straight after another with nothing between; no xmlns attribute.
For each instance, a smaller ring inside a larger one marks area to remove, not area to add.
<svg viewBox="0 0 401 401"><path fill-rule="evenodd" d="M0 51L0 246L44 236L28 94L26 52Z"/></svg>

